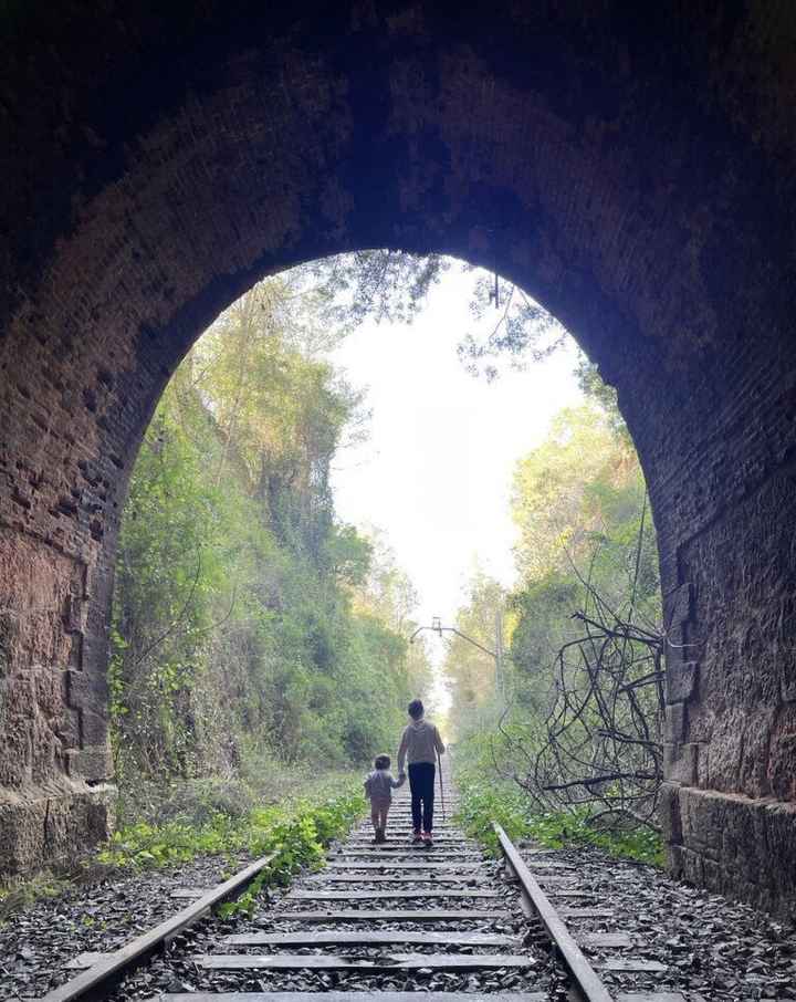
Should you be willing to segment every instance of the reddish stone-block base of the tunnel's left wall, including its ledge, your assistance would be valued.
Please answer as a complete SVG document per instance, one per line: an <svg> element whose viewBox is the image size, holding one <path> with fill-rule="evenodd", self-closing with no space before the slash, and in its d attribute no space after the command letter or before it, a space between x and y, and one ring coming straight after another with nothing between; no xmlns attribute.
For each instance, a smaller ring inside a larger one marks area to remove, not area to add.
<svg viewBox="0 0 796 1002"><path fill-rule="evenodd" d="M90 564L3 526L0 582L0 871L15 873L107 836L112 763Z"/></svg>

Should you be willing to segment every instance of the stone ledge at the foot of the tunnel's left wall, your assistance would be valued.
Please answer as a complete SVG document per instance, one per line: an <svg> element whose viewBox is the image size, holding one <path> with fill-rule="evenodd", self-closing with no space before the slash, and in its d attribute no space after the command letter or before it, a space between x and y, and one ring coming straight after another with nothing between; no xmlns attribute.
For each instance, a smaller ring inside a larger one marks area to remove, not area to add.
<svg viewBox="0 0 796 1002"><path fill-rule="evenodd" d="M116 787L45 793L0 803L0 873L23 873L85 855L111 834Z"/></svg>

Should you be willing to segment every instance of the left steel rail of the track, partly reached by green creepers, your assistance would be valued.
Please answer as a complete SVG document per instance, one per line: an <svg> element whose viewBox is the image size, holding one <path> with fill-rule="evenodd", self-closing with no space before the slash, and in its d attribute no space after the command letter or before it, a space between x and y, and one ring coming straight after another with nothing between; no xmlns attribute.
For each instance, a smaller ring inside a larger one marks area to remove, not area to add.
<svg viewBox="0 0 796 1002"><path fill-rule="evenodd" d="M41 1002L75 1002L75 1000L104 999L121 979L146 963L169 939L187 929L206 915L213 906L241 891L275 858L276 854L262 856L237 873L229 880L213 887L176 915L132 939L124 947L108 953L88 970L72 978L65 984L48 992Z"/></svg>

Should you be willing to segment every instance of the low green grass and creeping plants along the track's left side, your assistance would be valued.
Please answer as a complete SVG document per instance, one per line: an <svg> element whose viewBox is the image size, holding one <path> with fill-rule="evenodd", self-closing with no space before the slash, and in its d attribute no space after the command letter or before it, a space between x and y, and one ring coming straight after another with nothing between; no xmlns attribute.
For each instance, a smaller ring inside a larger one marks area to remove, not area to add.
<svg viewBox="0 0 796 1002"><path fill-rule="evenodd" d="M39 900L114 873L179 866L217 856L229 874L241 855L274 854L248 894L233 906L251 908L263 888L284 884L324 858L324 847L348 831L366 807L358 773L320 773L263 760L252 775L123 787L119 825L94 855L59 869L0 881L0 922Z"/></svg>

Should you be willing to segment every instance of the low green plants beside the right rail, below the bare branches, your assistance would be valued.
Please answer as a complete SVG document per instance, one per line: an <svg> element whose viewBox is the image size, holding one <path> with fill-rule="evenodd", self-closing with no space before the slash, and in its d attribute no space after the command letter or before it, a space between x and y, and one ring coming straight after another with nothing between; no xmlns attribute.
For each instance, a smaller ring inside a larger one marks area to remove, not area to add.
<svg viewBox="0 0 796 1002"><path fill-rule="evenodd" d="M500 852L492 822L498 822L512 842L527 838L556 849L591 845L611 856L651 866L664 863L662 839L650 828L600 829L586 807L576 812L534 813L527 797L513 783L460 781L458 820L467 834L478 838L494 856Z"/></svg>

